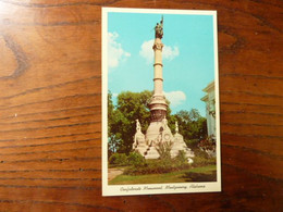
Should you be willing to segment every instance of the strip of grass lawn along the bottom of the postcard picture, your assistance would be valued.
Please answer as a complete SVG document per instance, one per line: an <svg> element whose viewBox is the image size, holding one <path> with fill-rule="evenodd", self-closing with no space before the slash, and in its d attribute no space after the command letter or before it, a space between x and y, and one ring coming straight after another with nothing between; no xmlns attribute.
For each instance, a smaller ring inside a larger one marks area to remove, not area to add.
<svg viewBox="0 0 283 212"><path fill-rule="evenodd" d="M127 184L163 184L163 183L187 183L187 182L216 182L217 166L208 165L202 167L193 167L165 174L147 175L119 175L109 182L109 185Z"/></svg>

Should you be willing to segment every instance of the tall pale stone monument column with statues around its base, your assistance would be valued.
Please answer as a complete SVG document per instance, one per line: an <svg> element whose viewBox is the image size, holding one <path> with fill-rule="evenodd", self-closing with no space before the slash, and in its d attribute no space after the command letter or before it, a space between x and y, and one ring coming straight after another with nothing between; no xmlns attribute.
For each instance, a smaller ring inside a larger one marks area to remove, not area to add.
<svg viewBox="0 0 283 212"><path fill-rule="evenodd" d="M138 151L146 159L158 159L160 157L158 150L161 146L170 149L172 158L183 150L188 159L194 157L194 152L184 142L183 136L179 134L177 122L175 123L175 135L172 135L168 126L167 109L168 104L163 95L163 77L162 77L162 48L161 41L163 37L163 17L160 23L157 23L156 39L153 43L155 51L155 91L151 97L150 109L150 125L146 135L142 133L139 121L136 120L136 134L134 137L133 150Z"/></svg>

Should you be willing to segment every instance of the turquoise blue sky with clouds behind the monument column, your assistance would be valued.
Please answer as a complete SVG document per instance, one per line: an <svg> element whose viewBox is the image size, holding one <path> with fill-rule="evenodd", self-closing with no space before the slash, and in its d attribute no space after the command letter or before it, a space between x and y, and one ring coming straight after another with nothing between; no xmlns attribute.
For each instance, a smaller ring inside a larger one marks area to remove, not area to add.
<svg viewBox="0 0 283 212"><path fill-rule="evenodd" d="M108 89L153 89L155 26L163 23L163 90L172 113L198 109L205 116L202 89L214 79L213 16L108 13Z"/></svg>

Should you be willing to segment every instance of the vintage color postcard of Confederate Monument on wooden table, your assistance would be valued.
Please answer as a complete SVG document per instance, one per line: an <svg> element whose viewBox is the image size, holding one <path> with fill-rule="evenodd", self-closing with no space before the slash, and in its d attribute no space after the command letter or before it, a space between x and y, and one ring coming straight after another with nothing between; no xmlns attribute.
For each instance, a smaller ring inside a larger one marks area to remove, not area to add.
<svg viewBox="0 0 283 212"><path fill-rule="evenodd" d="M102 8L102 196L221 191L217 12Z"/></svg>

